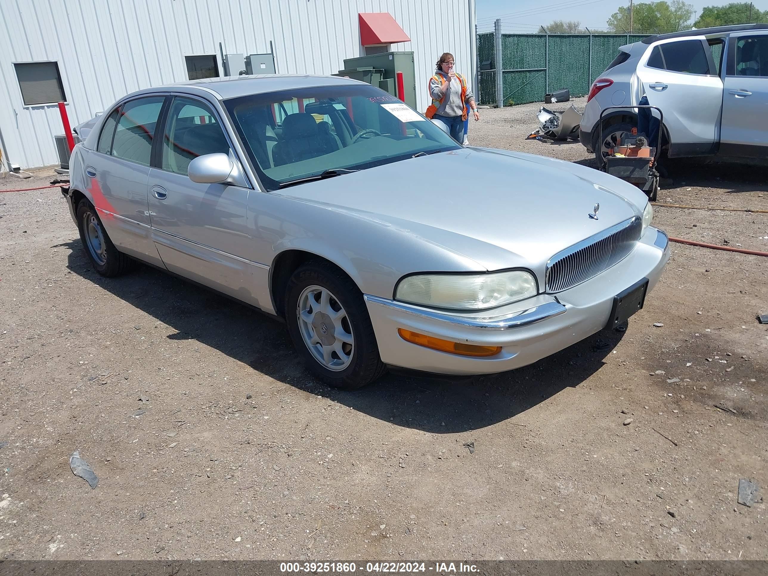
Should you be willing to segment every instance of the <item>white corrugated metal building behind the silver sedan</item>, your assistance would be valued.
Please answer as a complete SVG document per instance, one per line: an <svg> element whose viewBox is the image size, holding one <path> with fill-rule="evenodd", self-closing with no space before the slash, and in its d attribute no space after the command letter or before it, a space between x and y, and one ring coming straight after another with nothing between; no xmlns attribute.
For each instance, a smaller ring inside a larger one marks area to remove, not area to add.
<svg viewBox="0 0 768 576"><path fill-rule="evenodd" d="M475 0L0 0L3 161L58 164L59 99L75 126L131 91L224 75L222 53L271 45L278 74L335 74L366 54L359 14L382 12L411 39L391 49L414 52L419 110L443 51L474 80Z"/></svg>

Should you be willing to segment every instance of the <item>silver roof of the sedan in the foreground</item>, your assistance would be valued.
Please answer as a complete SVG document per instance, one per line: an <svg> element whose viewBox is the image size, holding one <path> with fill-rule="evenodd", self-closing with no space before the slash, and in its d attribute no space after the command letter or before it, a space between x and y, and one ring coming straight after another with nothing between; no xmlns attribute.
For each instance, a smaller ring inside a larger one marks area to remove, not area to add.
<svg viewBox="0 0 768 576"><path fill-rule="evenodd" d="M132 97L138 94L177 91L180 88L182 89L181 91L188 92L196 91L195 89L199 88L200 91L205 91L208 94L214 93L217 98L226 100L227 98L237 98L238 96L247 96L248 94L263 94L265 92L292 90L293 88L339 86L344 84L365 84L365 82L339 76L321 76L319 74L256 74L251 76L201 78L200 80L162 84L128 95Z"/></svg>

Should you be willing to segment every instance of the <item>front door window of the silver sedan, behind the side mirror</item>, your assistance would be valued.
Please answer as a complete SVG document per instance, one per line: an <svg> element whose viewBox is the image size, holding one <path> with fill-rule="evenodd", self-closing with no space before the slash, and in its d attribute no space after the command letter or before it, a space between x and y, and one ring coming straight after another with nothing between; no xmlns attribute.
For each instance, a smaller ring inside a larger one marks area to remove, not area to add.
<svg viewBox="0 0 768 576"><path fill-rule="evenodd" d="M230 144L207 104L192 98L174 98L165 124L163 170L187 174L198 156L229 154Z"/></svg>

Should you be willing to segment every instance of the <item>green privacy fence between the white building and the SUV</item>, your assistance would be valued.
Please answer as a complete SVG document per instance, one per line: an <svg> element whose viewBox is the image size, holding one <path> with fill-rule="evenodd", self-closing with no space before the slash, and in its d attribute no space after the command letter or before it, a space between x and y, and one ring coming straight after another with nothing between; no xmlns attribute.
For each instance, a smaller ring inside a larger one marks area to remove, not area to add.
<svg viewBox="0 0 768 576"><path fill-rule="evenodd" d="M502 63L504 105L540 102L544 94L561 88L568 88L573 98L584 96L615 58L619 46L643 38L627 34L478 34L478 101L498 104L497 59Z"/></svg>

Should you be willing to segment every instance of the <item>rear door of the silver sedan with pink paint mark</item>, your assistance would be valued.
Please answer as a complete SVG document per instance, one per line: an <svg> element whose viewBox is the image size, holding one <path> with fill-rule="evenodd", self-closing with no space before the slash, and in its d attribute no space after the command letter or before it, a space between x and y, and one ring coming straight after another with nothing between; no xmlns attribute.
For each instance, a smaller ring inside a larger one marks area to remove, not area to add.
<svg viewBox="0 0 768 576"><path fill-rule="evenodd" d="M131 256L161 265L151 237L147 180L165 96L137 98L113 111L88 153L88 191L109 237Z"/></svg>

